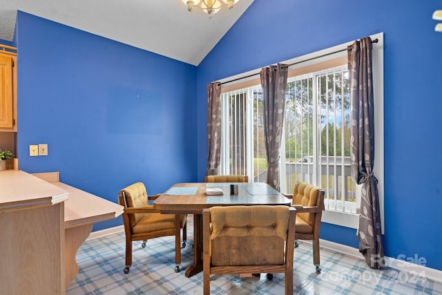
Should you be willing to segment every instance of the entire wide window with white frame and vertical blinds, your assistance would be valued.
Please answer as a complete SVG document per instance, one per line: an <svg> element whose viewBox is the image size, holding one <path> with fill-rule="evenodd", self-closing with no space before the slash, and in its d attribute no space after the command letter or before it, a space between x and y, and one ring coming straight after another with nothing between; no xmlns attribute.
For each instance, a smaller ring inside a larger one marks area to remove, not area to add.
<svg viewBox="0 0 442 295"><path fill-rule="evenodd" d="M372 36L375 38L379 41L373 46L374 172L383 223L383 34ZM280 180L282 193L291 193L298 181L325 189L323 221L357 228L360 188L351 178L347 51L341 50L349 44L283 62L294 66L289 67L287 79ZM258 79L222 86L221 104L221 173L249 175L252 182L265 182L259 74Z"/></svg>

